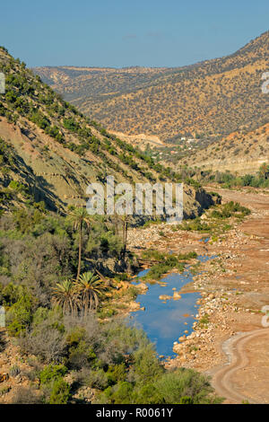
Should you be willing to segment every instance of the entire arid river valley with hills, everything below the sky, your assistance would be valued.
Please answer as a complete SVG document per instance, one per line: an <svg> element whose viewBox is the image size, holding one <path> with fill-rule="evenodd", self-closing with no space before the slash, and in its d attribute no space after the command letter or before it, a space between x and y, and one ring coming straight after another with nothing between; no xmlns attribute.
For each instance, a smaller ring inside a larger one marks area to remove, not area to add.
<svg viewBox="0 0 269 422"><path fill-rule="evenodd" d="M1 404L269 402L268 36L182 67L0 47ZM108 176L183 183L183 220L90 215Z"/></svg>

